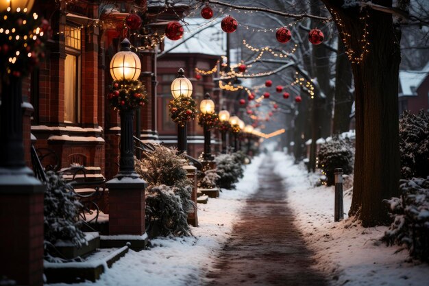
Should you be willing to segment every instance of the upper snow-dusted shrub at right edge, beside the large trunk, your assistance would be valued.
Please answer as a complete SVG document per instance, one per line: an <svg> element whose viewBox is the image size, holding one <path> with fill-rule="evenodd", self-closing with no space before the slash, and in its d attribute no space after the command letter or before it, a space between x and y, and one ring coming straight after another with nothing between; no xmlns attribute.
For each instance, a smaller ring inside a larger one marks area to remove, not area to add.
<svg viewBox="0 0 429 286"><path fill-rule="evenodd" d="M429 117L424 110L408 110L400 119L401 175L404 179L429 176Z"/></svg>

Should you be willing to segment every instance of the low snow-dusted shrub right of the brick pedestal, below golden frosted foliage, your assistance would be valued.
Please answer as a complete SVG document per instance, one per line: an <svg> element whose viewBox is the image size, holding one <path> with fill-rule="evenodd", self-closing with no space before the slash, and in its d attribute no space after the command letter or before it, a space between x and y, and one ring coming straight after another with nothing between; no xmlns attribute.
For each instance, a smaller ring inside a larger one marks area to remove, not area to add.
<svg viewBox="0 0 429 286"><path fill-rule="evenodd" d="M147 224L158 226L160 235L191 235L187 218L193 208L191 186L161 184L146 189Z"/></svg>

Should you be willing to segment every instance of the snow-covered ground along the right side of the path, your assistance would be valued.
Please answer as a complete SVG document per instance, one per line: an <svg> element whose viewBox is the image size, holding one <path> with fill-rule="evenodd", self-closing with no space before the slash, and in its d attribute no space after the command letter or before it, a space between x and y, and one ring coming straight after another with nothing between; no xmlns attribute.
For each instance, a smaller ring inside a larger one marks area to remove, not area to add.
<svg viewBox="0 0 429 286"><path fill-rule="evenodd" d="M273 158L278 163L274 171L288 189L295 225L333 285L429 285L429 265L408 263L408 250L397 252L400 247L380 243L387 227L363 228L347 218L351 195L344 197L345 220L334 222L334 187L315 187L319 176L294 165L289 156L278 152Z"/></svg>

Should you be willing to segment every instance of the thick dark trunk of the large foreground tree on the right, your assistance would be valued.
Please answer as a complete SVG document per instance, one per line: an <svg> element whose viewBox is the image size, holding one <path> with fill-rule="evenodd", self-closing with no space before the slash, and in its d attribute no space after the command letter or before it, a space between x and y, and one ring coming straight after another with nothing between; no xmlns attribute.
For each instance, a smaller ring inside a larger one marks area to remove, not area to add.
<svg viewBox="0 0 429 286"><path fill-rule="evenodd" d="M395 34L391 14L343 9L343 1L323 1L338 13L336 24L341 34L352 35L346 38L346 43L357 57L363 46L359 41L363 25L367 23L369 52L359 64L352 64L356 88L356 160L350 215L358 215L363 226L386 224L389 215L382 200L399 194L397 92L400 38ZM381 4L391 5L391 1ZM359 18L365 17L366 13L368 18ZM342 21L341 25L339 21Z"/></svg>

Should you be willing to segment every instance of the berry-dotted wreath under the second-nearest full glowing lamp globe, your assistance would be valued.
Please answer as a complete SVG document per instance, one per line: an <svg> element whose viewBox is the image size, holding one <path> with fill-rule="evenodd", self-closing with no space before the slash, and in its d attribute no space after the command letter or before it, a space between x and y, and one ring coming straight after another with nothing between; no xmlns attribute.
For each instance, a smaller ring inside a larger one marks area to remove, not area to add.
<svg viewBox="0 0 429 286"><path fill-rule="evenodd" d="M171 119L180 127L184 127L187 121L195 119L197 104L192 97L180 96L169 103Z"/></svg>

